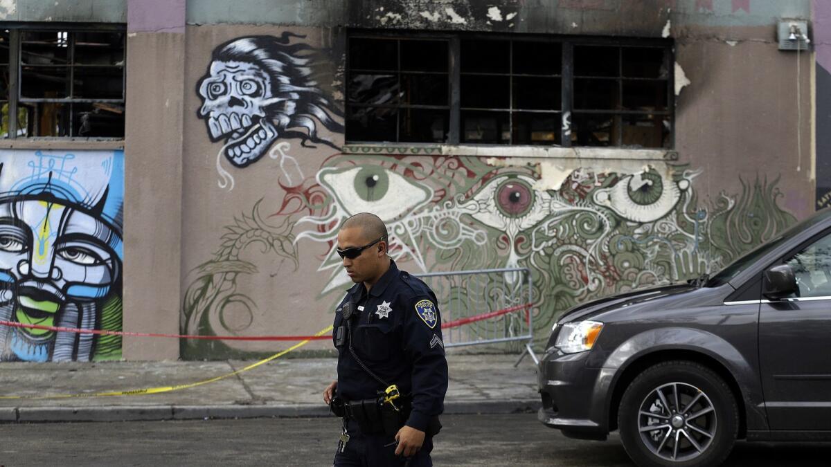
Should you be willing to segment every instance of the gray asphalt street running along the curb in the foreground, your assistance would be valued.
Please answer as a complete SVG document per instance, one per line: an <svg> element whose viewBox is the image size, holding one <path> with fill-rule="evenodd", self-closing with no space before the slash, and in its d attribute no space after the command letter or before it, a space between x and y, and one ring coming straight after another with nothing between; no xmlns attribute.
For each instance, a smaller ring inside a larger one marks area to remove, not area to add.
<svg viewBox="0 0 831 467"><path fill-rule="evenodd" d="M569 440L533 414L448 415L435 465L632 465L617 435ZM334 418L0 425L0 465L332 465ZM725 465L829 465L831 443L738 443Z"/></svg>

